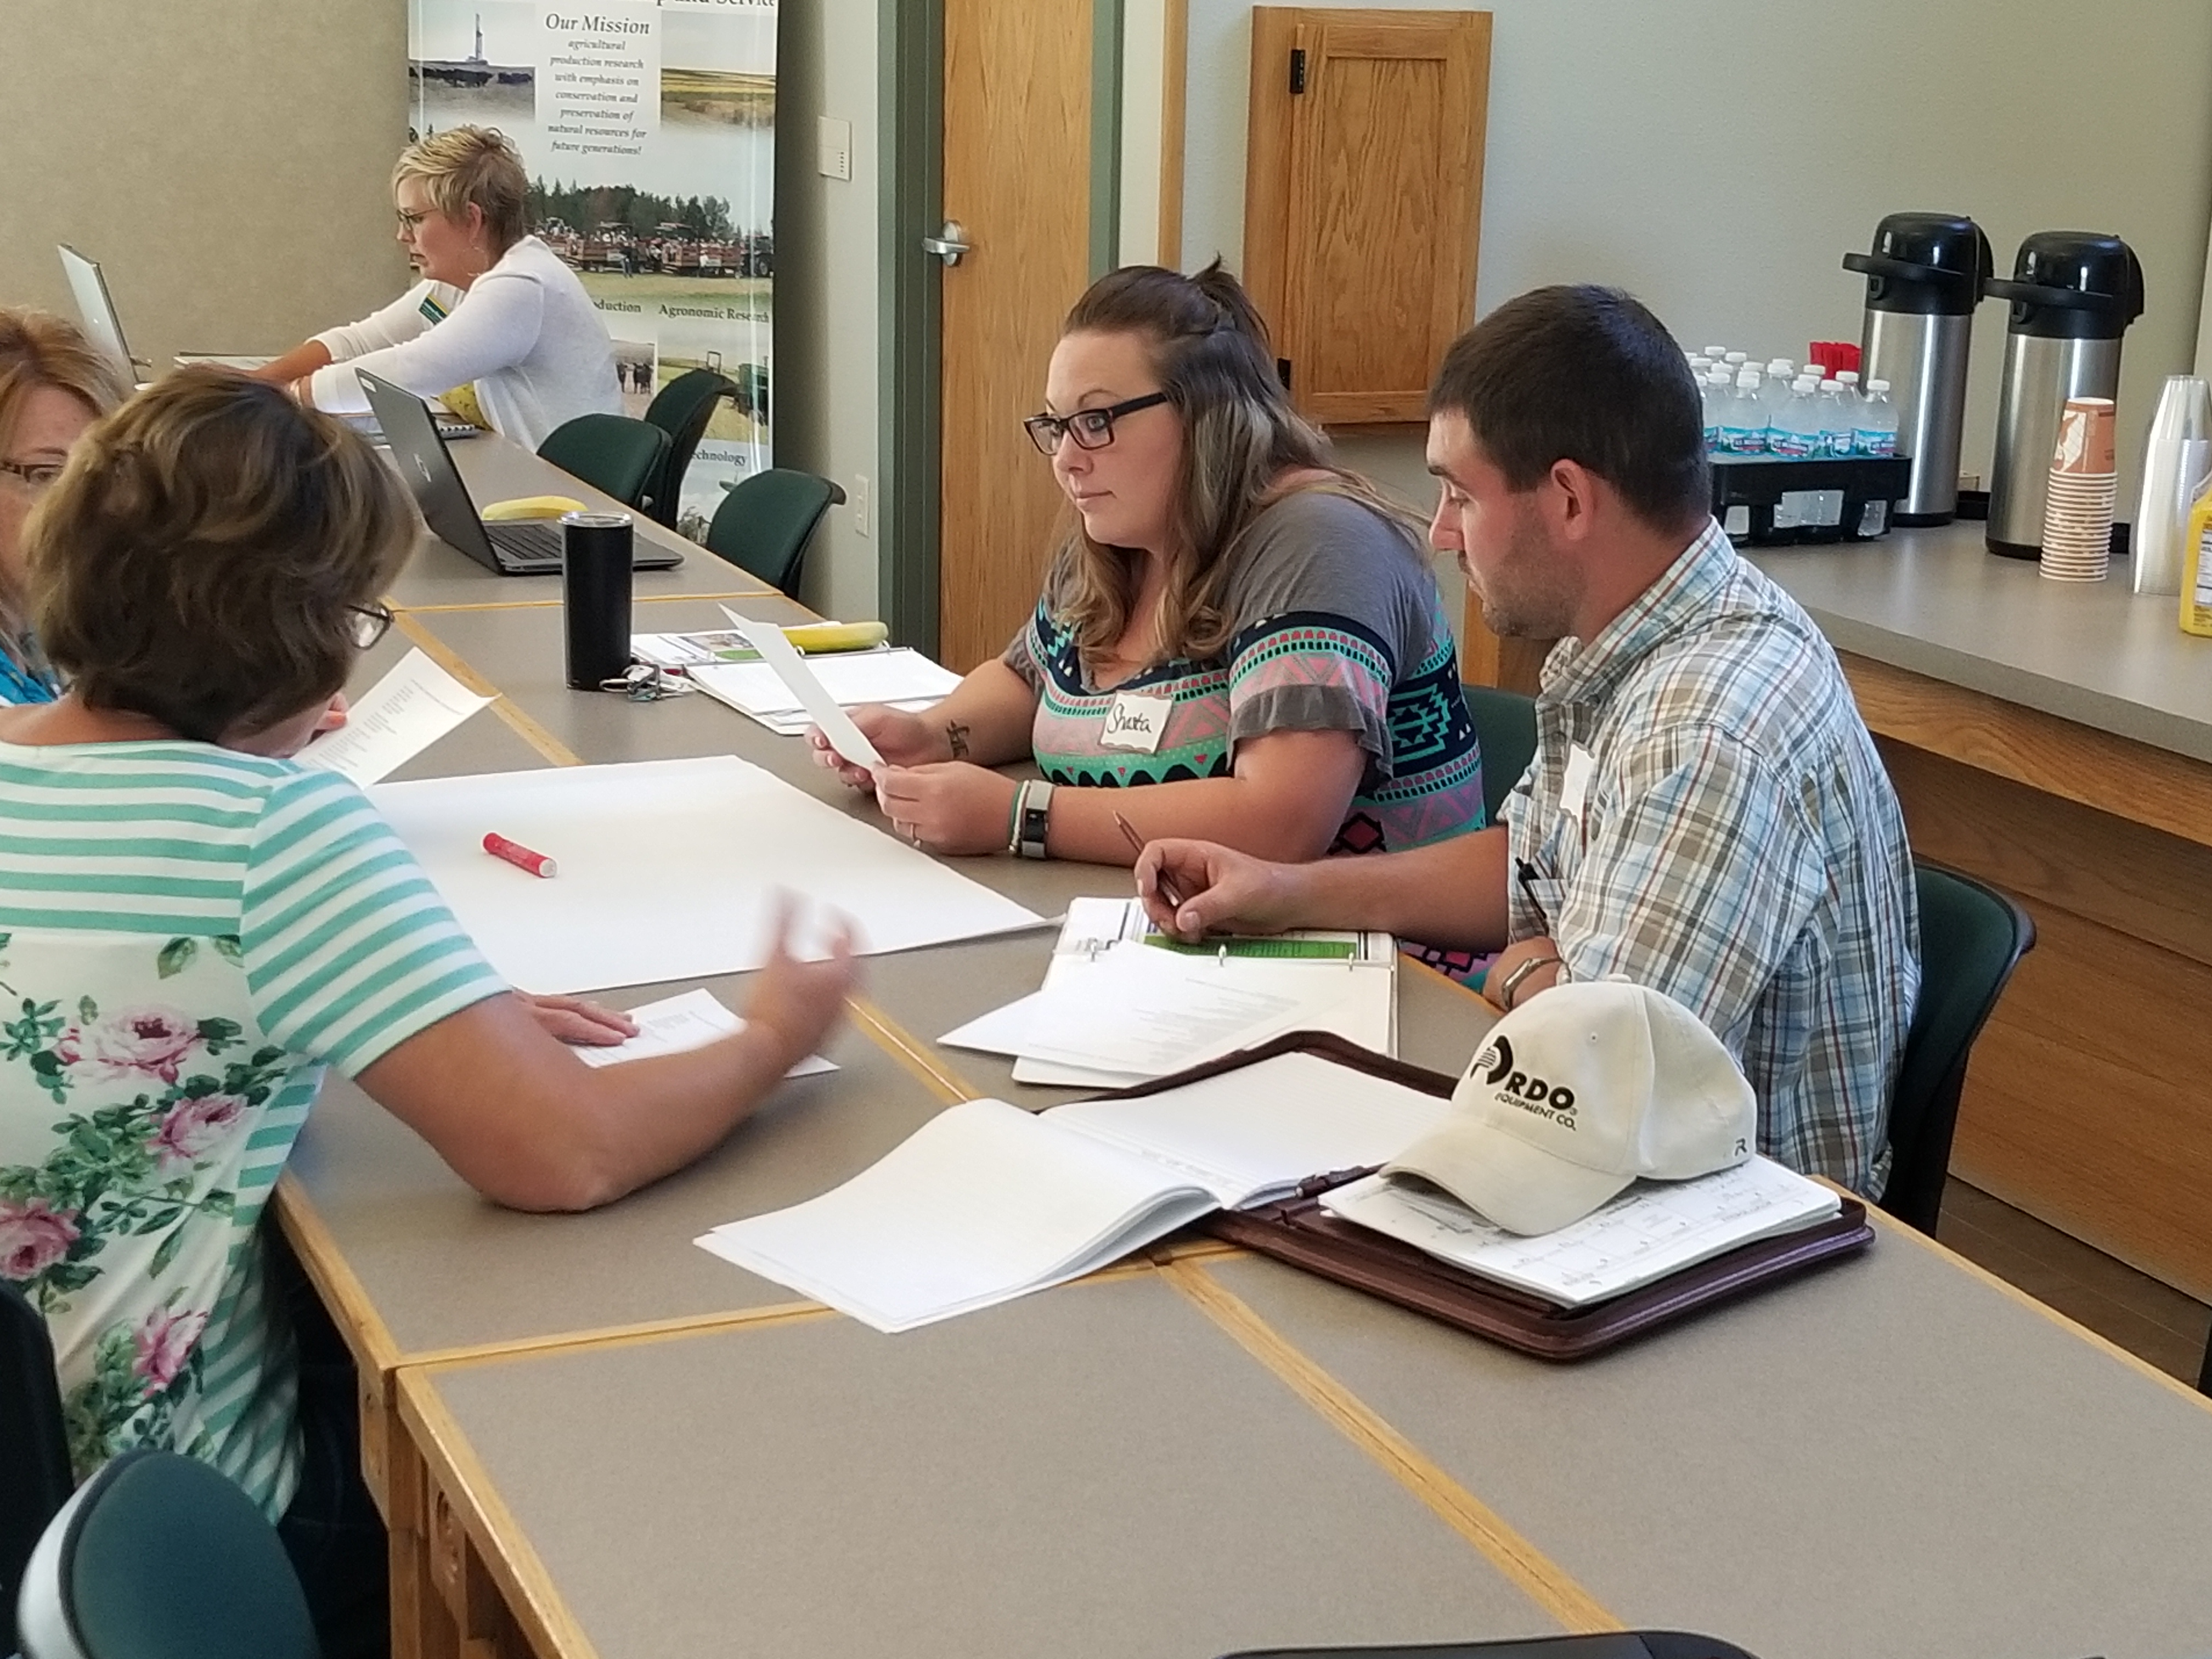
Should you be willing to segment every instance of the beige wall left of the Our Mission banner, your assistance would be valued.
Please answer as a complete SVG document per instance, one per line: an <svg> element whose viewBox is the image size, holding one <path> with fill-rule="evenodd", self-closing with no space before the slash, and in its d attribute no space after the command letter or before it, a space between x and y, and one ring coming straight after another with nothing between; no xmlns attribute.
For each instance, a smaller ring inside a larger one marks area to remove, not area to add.
<svg viewBox="0 0 2212 1659"><path fill-rule="evenodd" d="M7 0L0 301L73 316L102 263L131 349L279 352L392 299L405 0Z"/></svg>

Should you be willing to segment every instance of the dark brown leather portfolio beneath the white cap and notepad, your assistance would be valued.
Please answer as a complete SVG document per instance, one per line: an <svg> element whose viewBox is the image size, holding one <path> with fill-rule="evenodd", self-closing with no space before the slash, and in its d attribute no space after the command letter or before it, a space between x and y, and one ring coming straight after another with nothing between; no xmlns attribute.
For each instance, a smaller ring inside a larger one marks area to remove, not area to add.
<svg viewBox="0 0 2212 1659"><path fill-rule="evenodd" d="M1179 1088L1201 1077L1298 1051L1376 1077L1389 1077L1429 1095L1451 1095L1458 1086L1455 1077L1369 1053L1343 1037L1321 1031L1292 1031L1206 1066L1192 1066L1172 1077L1157 1077L1137 1088L1117 1091L1115 1097ZM1201 1225L1248 1250L1259 1250L1294 1267L1354 1285L1371 1296L1413 1307L1447 1325L1458 1325L1464 1332L1489 1336L1493 1343L1504 1343L1522 1354L1535 1354L1546 1360L1588 1358L1615 1343L1626 1343L1630 1336L1672 1325L1701 1307L1734 1301L1820 1263L1856 1254L1874 1243L1874 1225L1867 1221L1865 1206L1858 1199L1845 1197L1843 1210L1827 1221L1816 1221L1809 1228L1774 1239L1756 1239L1610 1301L1586 1307L1562 1307L1453 1267L1409 1243L1387 1239L1349 1221L1338 1221L1321 1208L1323 1192L1371 1172L1334 1170L1316 1175L1287 1199L1261 1203L1252 1210L1223 1210L1208 1217Z"/></svg>

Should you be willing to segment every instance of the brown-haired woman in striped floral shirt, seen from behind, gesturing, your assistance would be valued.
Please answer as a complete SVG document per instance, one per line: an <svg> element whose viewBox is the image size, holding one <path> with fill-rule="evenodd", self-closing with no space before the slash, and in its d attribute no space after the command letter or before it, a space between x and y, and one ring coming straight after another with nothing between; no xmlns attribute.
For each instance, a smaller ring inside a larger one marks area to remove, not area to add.
<svg viewBox="0 0 2212 1659"><path fill-rule="evenodd" d="M0 1272L53 1334L77 1473L153 1444L237 1480L332 1657L376 1650L383 1537L343 1352L321 1385L312 1296L296 1325L257 1225L325 1071L495 1203L586 1210L721 1141L852 978L847 942L779 942L743 1031L606 1068L560 1040L619 1042L628 1015L500 982L367 796L290 759L392 622L376 595L414 533L343 422L181 369L84 434L33 511L31 619L66 690L0 710L22 1011Z"/></svg>

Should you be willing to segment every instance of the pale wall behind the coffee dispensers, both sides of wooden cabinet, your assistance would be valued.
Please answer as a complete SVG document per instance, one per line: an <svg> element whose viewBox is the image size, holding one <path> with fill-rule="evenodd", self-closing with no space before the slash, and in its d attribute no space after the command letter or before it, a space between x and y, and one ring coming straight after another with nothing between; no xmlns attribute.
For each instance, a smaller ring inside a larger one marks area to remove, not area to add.
<svg viewBox="0 0 2212 1659"><path fill-rule="evenodd" d="M1394 0L1418 7L1422 0ZM1338 0L1358 4L1358 0ZM2197 356L2212 228L2205 0L1489 0L1478 312L1540 283L1641 294L1688 345L1858 338L1838 259L1898 210L2117 230L2150 307L2121 372L2132 507L2161 378ZM1190 0L1183 263L1243 243L1250 7ZM1989 467L2004 307L1975 321L1964 465Z"/></svg>

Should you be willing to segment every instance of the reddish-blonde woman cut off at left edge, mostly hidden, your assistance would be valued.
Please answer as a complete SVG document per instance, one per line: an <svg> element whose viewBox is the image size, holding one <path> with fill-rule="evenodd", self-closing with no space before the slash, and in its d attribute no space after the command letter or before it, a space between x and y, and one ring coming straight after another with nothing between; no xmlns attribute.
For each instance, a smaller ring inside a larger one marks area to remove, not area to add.
<svg viewBox="0 0 2212 1659"><path fill-rule="evenodd" d="M84 429L128 396L131 374L75 323L0 305L0 703L62 695L31 635L22 522Z"/></svg>

